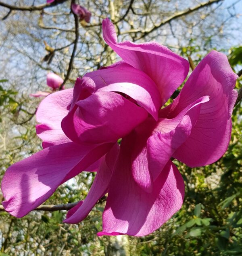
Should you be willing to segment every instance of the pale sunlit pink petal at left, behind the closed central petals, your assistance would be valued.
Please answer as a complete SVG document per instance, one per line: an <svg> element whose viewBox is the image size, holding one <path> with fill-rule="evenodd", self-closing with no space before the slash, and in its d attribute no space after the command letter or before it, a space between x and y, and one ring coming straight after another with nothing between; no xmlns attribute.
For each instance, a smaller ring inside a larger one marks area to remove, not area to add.
<svg viewBox="0 0 242 256"><path fill-rule="evenodd" d="M61 129L61 121L68 114L67 106L71 102L73 89L52 93L38 107L36 133L43 140L43 148L70 142Z"/></svg>

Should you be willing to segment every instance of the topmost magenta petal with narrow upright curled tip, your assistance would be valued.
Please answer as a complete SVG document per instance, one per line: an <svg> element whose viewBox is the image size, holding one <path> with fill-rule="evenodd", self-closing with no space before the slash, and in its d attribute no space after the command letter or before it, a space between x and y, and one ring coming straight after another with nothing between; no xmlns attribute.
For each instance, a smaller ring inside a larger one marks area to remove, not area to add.
<svg viewBox="0 0 242 256"><path fill-rule="evenodd" d="M117 43L115 27L108 18L102 21L102 30L106 43L126 63L152 78L159 89L162 105L164 105L186 78L189 71L188 61L157 42Z"/></svg>

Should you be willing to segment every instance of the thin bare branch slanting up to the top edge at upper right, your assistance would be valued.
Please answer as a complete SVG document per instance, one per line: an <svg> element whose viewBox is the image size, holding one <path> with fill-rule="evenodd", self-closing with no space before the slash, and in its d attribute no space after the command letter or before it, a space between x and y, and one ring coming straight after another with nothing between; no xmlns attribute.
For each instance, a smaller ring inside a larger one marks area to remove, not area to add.
<svg viewBox="0 0 242 256"><path fill-rule="evenodd" d="M152 29L148 30L148 31L144 31L142 36L140 36L139 38L136 38L136 40L139 40L141 38L144 38L145 36L147 36L148 34L150 34L151 32L157 30L158 28L161 28L163 25L171 22L173 19L177 19L181 16L184 16L184 15L188 15L190 13L193 13L194 11L197 11L199 10L200 8L203 8L205 6L209 6L211 4L214 4L214 3L218 3L218 2L221 2L223 0L209 0L208 2L203 2L201 4L198 4L197 6L195 7L192 7L192 8L188 8L184 11L180 11L180 12L177 12L175 13L174 15L168 17L167 19L161 21L161 23L159 23L158 25L155 25Z"/></svg>

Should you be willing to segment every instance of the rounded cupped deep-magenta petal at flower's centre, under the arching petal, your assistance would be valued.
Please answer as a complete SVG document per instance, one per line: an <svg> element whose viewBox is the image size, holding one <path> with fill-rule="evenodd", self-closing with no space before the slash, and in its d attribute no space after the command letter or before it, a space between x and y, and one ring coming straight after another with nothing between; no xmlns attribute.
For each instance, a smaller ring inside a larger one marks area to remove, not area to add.
<svg viewBox="0 0 242 256"><path fill-rule="evenodd" d="M116 142L148 116L143 108L110 91L96 92L77 106L62 122L63 131L74 142Z"/></svg>

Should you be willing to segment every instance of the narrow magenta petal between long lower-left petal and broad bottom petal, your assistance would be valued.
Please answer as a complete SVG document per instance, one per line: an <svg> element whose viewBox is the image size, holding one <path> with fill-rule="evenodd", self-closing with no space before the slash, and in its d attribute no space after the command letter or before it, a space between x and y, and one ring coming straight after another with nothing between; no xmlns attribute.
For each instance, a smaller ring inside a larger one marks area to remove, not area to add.
<svg viewBox="0 0 242 256"><path fill-rule="evenodd" d="M66 223L78 223L82 221L92 210L97 201L107 193L108 185L112 176L113 167L119 154L119 145L115 144L113 148L106 154L97 171L94 182L90 191L83 201L78 203L67 213ZM75 208L75 209L74 209Z"/></svg>

